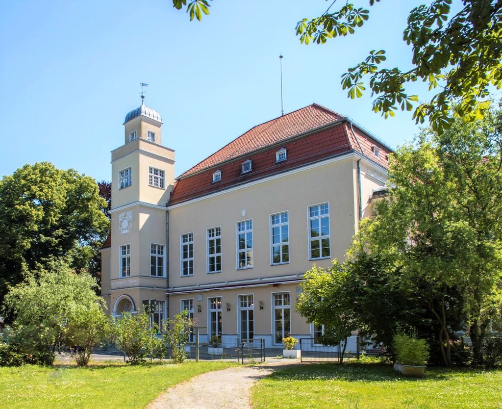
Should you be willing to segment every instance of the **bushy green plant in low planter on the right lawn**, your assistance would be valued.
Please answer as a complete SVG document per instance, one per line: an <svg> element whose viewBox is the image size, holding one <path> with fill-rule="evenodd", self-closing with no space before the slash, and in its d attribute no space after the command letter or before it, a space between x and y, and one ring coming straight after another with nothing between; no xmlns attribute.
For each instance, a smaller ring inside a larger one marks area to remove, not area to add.
<svg viewBox="0 0 502 409"><path fill-rule="evenodd" d="M405 334L394 337L396 363L394 369L405 376L422 376L429 359L429 346L423 339Z"/></svg>

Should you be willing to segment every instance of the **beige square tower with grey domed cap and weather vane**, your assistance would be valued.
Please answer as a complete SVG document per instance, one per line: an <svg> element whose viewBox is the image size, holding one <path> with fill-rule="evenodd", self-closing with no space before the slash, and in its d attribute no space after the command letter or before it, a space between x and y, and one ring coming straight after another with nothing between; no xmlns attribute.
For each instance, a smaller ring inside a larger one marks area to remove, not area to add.
<svg viewBox="0 0 502 409"><path fill-rule="evenodd" d="M144 98L144 95L142 95ZM124 120L124 144L111 151L111 239L102 251L102 295L108 312L167 318L167 211L174 151L161 145L161 115L142 105Z"/></svg>

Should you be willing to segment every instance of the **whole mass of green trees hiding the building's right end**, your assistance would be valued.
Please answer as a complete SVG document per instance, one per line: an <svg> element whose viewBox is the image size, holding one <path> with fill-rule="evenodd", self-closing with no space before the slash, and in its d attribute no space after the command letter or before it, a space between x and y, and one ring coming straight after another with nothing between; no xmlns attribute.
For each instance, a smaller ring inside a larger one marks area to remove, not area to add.
<svg viewBox="0 0 502 409"><path fill-rule="evenodd" d="M307 274L300 313L388 347L400 329L416 329L445 365L453 334L467 331L483 363L502 314L501 131L502 111L490 111L400 148L388 197L361 223L343 265Z"/></svg>

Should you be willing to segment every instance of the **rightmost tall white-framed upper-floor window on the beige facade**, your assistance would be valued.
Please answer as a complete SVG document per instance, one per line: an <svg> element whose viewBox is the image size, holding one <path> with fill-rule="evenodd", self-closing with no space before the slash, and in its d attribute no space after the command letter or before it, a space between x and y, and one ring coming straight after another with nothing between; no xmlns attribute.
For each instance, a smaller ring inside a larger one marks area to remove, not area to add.
<svg viewBox="0 0 502 409"><path fill-rule="evenodd" d="M311 260L331 255L329 240L329 203L309 207L309 257Z"/></svg>

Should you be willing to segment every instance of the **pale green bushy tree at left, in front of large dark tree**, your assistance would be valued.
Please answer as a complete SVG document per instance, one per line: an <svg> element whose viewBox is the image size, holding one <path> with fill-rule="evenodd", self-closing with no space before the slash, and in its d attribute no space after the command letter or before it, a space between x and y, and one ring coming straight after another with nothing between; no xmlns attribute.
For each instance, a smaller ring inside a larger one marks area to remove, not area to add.
<svg viewBox="0 0 502 409"><path fill-rule="evenodd" d="M5 298L7 311L16 317L12 343L26 354L46 354L51 363L58 342L74 345L86 337L99 339L96 326L104 327L106 319L95 285L91 276L75 274L63 261L30 274Z"/></svg>

